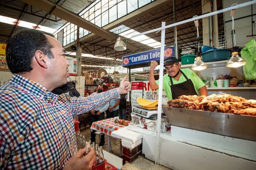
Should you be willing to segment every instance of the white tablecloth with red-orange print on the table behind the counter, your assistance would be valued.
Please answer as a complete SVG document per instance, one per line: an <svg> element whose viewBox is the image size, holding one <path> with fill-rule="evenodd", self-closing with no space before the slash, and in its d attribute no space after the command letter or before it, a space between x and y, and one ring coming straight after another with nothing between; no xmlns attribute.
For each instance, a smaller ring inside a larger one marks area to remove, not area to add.
<svg viewBox="0 0 256 170"><path fill-rule="evenodd" d="M122 120L122 119L119 119L119 120ZM130 125L131 121L128 121L128 122ZM125 126L120 125L118 122L114 123L114 118L108 118L108 119L103 119L100 121L93 122L90 129L91 129L91 131L96 130L96 131L100 131L101 133L104 133L108 136L111 136L111 133L113 131L121 129L123 127L125 127Z"/></svg>

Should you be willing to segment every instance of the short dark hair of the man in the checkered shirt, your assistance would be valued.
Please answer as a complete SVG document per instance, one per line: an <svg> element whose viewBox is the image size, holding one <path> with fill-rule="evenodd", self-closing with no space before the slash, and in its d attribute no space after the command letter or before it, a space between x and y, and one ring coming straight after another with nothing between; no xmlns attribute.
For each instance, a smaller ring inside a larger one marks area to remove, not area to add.
<svg viewBox="0 0 256 170"><path fill-rule="evenodd" d="M14 34L6 45L6 61L12 73L31 71L32 59L37 50L53 58L53 45L45 36L50 33L35 29L23 29Z"/></svg>

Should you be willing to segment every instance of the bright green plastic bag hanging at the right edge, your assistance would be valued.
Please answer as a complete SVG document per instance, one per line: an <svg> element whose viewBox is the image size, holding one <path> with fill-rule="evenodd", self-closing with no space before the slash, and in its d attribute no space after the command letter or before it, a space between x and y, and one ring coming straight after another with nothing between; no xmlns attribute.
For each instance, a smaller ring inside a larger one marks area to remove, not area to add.
<svg viewBox="0 0 256 170"><path fill-rule="evenodd" d="M243 66L244 78L246 80L256 79L256 42L252 38L241 50L241 57L246 61Z"/></svg>

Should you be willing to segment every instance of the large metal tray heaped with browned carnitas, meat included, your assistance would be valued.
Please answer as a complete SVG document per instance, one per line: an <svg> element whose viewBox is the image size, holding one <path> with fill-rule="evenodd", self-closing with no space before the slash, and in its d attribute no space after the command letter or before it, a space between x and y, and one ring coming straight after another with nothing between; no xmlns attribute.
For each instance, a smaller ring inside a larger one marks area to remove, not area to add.
<svg viewBox="0 0 256 170"><path fill-rule="evenodd" d="M182 95L163 106L171 125L256 141L256 100L230 94Z"/></svg>

